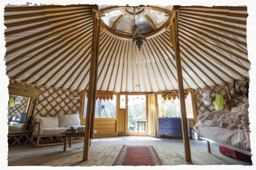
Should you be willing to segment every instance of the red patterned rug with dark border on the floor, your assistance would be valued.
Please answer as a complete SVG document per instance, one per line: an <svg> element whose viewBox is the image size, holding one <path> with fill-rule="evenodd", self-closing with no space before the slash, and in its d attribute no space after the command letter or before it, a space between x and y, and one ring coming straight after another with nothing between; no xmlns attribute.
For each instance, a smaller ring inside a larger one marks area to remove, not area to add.
<svg viewBox="0 0 256 170"><path fill-rule="evenodd" d="M110 170L165 170L153 146L124 145Z"/></svg>

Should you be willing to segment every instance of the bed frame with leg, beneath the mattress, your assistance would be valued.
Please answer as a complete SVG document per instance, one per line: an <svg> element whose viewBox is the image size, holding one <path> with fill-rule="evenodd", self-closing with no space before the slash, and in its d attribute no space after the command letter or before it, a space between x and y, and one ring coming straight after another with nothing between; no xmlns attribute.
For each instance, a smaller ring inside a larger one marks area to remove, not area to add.
<svg viewBox="0 0 256 170"><path fill-rule="evenodd" d="M203 140L206 140L207 141L207 146L208 146L208 152L211 153L210 151L210 142L212 143L216 143L218 145L221 145L223 147L226 147L226 148L229 148L229 149L233 149L233 150L236 150L238 152L241 152L241 153L244 153L246 155L249 155L249 156L252 156L252 157L255 157L256 158L256 152L252 152L252 151L249 151L249 150L245 150L245 149L241 149L241 148L237 148L237 147L233 147L233 146L230 146L230 145L227 145L227 144L224 144L224 143L221 143L221 142L216 142L214 140L211 140L209 138L204 138L202 136L199 136L201 139Z"/></svg>

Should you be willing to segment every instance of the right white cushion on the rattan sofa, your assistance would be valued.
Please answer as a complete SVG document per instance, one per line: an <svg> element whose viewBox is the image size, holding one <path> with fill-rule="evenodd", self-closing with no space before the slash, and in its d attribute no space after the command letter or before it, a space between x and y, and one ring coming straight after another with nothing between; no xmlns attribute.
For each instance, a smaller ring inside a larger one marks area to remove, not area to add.
<svg viewBox="0 0 256 170"><path fill-rule="evenodd" d="M74 115L58 115L59 127L76 126L80 124L79 114Z"/></svg>

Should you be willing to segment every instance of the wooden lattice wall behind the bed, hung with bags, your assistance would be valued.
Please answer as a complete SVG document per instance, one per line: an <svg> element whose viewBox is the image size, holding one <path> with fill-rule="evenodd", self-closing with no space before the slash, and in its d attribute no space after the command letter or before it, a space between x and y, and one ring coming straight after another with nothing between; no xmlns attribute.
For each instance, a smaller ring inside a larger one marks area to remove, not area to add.
<svg viewBox="0 0 256 170"><path fill-rule="evenodd" d="M229 86L231 95L233 96L233 99L234 99L235 106L240 106L240 105L246 103L245 94L247 92L247 89L244 87L244 82L245 82L245 79L243 79L243 81L239 83L240 89L244 92L244 95L241 97L236 97L233 95L233 83ZM250 87L249 91L251 92L250 93L251 101L256 101L256 76L251 81L248 81L248 82L249 82L249 87ZM236 88L238 88L237 85L236 85ZM195 92L198 114L215 111L214 104L215 104L216 94L219 93L220 95L224 96L224 99L225 99L225 96L228 94L228 89L227 89L227 87L225 87L224 84L221 86L214 85L212 87L208 87L208 91L210 93L210 97L212 98L212 102L210 105L206 105L203 102L202 94L204 92L204 89L197 89ZM222 110L225 110L224 105L223 105Z"/></svg>

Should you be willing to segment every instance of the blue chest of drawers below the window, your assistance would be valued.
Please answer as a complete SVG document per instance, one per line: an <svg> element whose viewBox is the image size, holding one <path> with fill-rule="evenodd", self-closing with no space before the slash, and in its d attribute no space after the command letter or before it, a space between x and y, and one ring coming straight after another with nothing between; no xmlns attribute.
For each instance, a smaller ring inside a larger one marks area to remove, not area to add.
<svg viewBox="0 0 256 170"><path fill-rule="evenodd" d="M170 135L170 136L182 136L182 124L181 118L176 117L159 117L159 136ZM188 135L190 138L189 121L187 119Z"/></svg>

